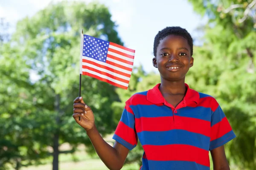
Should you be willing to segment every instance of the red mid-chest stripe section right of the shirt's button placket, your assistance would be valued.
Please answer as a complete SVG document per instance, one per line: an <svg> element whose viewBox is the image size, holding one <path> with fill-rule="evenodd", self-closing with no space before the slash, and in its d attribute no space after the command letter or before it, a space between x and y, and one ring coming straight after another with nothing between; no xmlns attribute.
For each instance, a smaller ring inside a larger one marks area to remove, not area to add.
<svg viewBox="0 0 256 170"><path fill-rule="evenodd" d="M209 121L183 116L175 116L174 119L180 122L180 125L175 125L175 129L211 136L211 122Z"/></svg>

